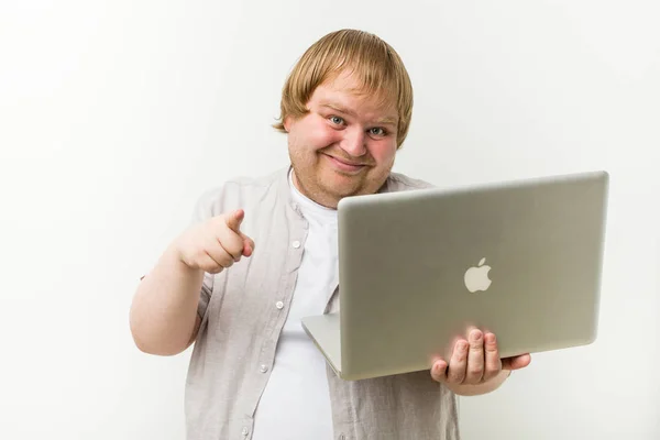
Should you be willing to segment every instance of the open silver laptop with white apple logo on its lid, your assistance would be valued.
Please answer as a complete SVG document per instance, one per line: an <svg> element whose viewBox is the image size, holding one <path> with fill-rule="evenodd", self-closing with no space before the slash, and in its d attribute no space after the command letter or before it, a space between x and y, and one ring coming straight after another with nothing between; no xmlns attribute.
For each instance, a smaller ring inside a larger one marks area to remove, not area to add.
<svg viewBox="0 0 660 440"><path fill-rule="evenodd" d="M344 198L340 311L302 319L346 381L429 370L475 326L502 358L586 345L598 326L609 175Z"/></svg>

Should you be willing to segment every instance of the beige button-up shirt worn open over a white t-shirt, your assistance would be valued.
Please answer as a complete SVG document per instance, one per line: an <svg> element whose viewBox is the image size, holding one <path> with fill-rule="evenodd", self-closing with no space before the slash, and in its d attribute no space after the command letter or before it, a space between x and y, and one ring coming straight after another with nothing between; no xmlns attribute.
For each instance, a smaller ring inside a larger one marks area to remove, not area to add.
<svg viewBox="0 0 660 440"><path fill-rule="evenodd" d="M227 182L198 202L196 222L243 208L241 231L256 245L251 257L205 277L201 327L186 382L188 440L252 436L308 233L287 172ZM426 187L430 185L392 173L380 191ZM326 312L339 310L338 294L339 287L328 292ZM337 377L330 366L327 374L336 439L459 439L455 396L428 371L351 382Z"/></svg>

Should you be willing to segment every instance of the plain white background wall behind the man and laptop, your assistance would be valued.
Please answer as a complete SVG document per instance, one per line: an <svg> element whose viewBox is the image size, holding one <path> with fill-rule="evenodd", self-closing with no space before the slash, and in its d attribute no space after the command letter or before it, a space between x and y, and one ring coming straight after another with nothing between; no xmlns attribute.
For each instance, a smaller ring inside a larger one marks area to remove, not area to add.
<svg viewBox="0 0 660 440"><path fill-rule="evenodd" d="M202 190L287 164L282 85L340 28L409 69L395 170L612 174L600 339L462 398L464 439L660 438L656 0L0 4L0 438L184 438L189 352L132 345L138 279Z"/></svg>

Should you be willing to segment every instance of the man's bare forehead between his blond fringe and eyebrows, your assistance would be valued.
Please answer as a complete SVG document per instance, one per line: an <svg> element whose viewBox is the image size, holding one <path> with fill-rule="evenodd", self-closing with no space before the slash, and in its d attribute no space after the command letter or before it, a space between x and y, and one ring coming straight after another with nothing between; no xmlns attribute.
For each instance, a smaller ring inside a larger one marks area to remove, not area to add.
<svg viewBox="0 0 660 440"><path fill-rule="evenodd" d="M353 75L345 72L319 85L310 105L348 110L360 117L398 121L394 98L385 90L372 94Z"/></svg>

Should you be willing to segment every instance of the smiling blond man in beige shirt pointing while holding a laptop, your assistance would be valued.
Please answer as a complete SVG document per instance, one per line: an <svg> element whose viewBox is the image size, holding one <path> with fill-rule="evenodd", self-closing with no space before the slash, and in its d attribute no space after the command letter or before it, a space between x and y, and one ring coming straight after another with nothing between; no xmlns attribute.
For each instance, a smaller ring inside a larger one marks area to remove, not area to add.
<svg viewBox="0 0 660 440"><path fill-rule="evenodd" d="M429 185L392 173L413 110L397 53L343 30L315 43L283 90L276 128L290 167L234 179L201 197L135 293L131 329L144 352L195 342L188 439L458 439L455 395L497 388L529 355L501 360L473 329L429 371L342 381L300 318L338 304L337 205L343 197Z"/></svg>

